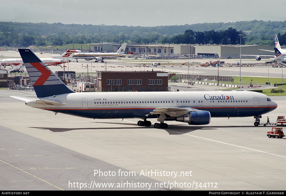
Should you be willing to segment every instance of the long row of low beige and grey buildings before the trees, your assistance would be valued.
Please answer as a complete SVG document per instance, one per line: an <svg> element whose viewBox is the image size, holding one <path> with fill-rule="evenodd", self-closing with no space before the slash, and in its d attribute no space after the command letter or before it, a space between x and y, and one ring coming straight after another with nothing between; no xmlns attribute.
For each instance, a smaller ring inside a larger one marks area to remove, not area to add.
<svg viewBox="0 0 286 196"><path fill-rule="evenodd" d="M122 43L123 44L123 43ZM120 43L95 43L90 44L91 50L96 52L116 52L120 48ZM194 57L210 57L210 58L239 58L240 48L242 55L274 55L274 52L262 51L273 50L274 46L263 45L215 45L215 44L139 44L128 43L126 52L140 55L161 55L162 57L182 57L183 55L191 55ZM241 58L251 58L251 56L242 56Z"/></svg>

